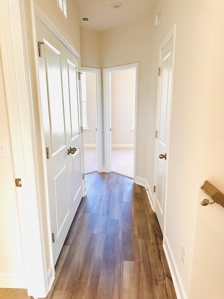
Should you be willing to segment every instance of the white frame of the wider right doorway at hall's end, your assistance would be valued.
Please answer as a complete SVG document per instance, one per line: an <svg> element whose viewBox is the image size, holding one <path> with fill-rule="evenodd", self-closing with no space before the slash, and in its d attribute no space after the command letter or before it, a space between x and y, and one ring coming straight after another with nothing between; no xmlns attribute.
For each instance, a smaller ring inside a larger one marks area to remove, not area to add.
<svg viewBox="0 0 224 299"><path fill-rule="evenodd" d="M135 89L135 127L134 127L134 182L136 182L136 143L137 143L137 108L138 108L138 67L139 63L122 65L106 68L104 73L104 140L105 140L105 165L104 171L111 172L111 73L136 70L136 89Z"/></svg>

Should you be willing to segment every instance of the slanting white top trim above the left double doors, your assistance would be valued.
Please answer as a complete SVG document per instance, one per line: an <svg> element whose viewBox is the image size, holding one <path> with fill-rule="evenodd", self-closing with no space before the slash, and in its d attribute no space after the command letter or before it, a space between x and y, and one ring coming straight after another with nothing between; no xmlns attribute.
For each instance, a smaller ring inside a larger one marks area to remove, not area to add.
<svg viewBox="0 0 224 299"><path fill-rule="evenodd" d="M43 11L34 4L35 14L36 16L50 29L50 31L61 41L63 45L65 45L70 52L79 58L79 53L73 48L73 46L65 39L65 37L57 30L54 24L48 19L48 17L43 13Z"/></svg>

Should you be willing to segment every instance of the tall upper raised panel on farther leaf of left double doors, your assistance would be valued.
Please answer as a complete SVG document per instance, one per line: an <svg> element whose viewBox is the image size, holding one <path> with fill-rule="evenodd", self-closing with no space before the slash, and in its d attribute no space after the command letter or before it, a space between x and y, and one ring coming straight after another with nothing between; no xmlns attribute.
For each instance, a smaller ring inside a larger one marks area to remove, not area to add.
<svg viewBox="0 0 224 299"><path fill-rule="evenodd" d="M77 67L68 59L71 139L79 134Z"/></svg>

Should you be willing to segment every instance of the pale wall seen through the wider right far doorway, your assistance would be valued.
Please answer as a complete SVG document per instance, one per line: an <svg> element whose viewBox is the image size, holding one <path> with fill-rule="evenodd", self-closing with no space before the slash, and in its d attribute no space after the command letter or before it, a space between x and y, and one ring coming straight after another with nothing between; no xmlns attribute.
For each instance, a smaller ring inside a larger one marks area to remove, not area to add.
<svg viewBox="0 0 224 299"><path fill-rule="evenodd" d="M135 69L111 74L111 126L113 144L133 144Z"/></svg>

